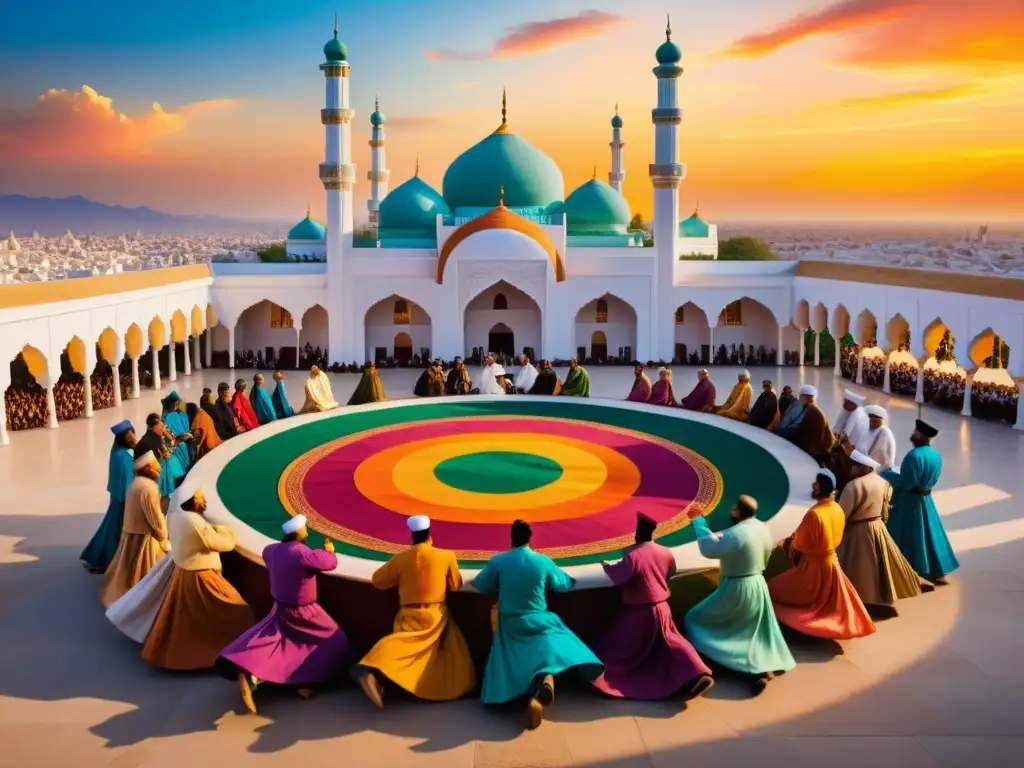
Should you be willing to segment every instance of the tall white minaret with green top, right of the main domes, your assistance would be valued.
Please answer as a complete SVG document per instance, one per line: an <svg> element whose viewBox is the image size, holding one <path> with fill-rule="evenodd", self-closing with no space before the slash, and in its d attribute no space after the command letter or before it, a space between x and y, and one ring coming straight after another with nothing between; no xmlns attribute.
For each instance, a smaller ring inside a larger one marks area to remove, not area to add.
<svg viewBox="0 0 1024 768"><path fill-rule="evenodd" d="M656 318L651 343L652 356L672 359L674 348L675 307L672 303L672 285L676 261L679 258L679 185L686 176L686 166L679 162L679 125L683 111L679 108L679 76L683 68L679 62L683 53L672 42L672 19L665 27L665 42L654 53L657 67L657 106L651 110L654 123L654 162L650 165L650 181L654 185L654 249L656 252L653 274L652 299L656 302ZM656 295L655 295L656 294Z"/></svg>

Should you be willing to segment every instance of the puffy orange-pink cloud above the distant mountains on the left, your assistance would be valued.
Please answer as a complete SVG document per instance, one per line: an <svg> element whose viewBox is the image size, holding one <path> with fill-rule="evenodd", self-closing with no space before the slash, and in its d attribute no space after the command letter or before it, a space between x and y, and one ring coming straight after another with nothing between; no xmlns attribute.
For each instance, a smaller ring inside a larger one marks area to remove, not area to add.
<svg viewBox="0 0 1024 768"><path fill-rule="evenodd" d="M180 131L187 120L234 105L233 99L210 99L168 112L154 101L141 114L128 116L91 86L80 91L51 88L31 112L0 115L0 156L47 161L151 156L156 142Z"/></svg>

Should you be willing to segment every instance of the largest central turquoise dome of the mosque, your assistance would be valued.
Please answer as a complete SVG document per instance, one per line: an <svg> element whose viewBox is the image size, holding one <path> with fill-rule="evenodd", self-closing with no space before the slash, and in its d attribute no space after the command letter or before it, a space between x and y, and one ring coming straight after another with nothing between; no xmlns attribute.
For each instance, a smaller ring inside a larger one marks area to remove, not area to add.
<svg viewBox="0 0 1024 768"><path fill-rule="evenodd" d="M455 210L494 208L502 187L508 208L544 208L565 194L555 162L522 136L501 128L455 159L441 188Z"/></svg>

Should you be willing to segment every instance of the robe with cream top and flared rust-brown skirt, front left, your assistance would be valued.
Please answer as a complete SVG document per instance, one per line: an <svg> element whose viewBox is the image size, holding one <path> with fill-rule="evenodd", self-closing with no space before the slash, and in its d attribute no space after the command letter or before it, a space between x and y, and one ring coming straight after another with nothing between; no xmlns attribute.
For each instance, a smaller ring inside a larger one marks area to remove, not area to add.
<svg viewBox="0 0 1024 768"><path fill-rule="evenodd" d="M220 573L234 531L182 509L167 515L174 563L167 592L142 644L142 658L165 670L205 670L256 616Z"/></svg>

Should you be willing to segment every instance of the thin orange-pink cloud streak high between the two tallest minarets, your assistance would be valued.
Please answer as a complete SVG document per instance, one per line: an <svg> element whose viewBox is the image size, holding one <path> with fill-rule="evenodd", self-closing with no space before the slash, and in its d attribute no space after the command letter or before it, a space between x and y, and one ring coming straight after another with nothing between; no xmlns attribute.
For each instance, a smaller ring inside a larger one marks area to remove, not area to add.
<svg viewBox="0 0 1024 768"><path fill-rule="evenodd" d="M574 16L552 18L548 22L524 22L508 30L489 51L467 51L452 48L426 50L423 55L430 61L479 61L486 58L512 58L541 53L587 38L603 35L620 24L625 16L601 10L585 10Z"/></svg>

